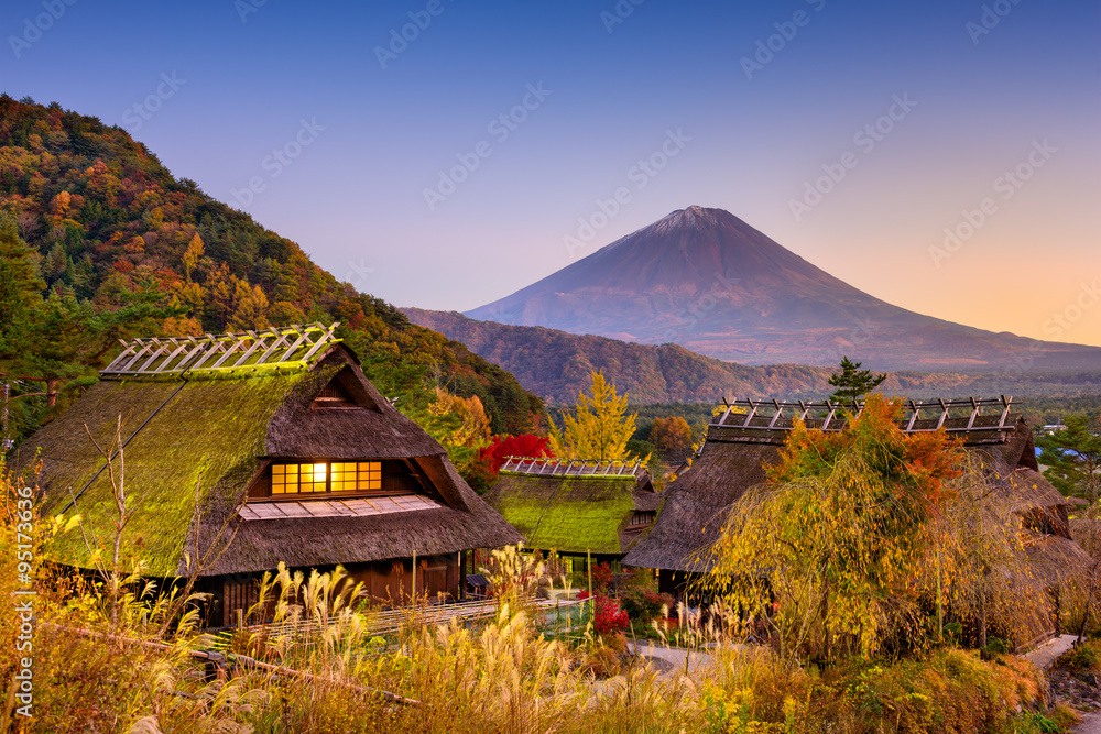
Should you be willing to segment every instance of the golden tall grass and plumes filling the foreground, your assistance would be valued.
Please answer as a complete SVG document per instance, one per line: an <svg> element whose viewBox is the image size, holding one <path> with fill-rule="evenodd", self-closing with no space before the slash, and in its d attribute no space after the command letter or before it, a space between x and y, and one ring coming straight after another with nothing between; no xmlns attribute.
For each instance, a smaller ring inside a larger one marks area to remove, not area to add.
<svg viewBox="0 0 1101 734"><path fill-rule="evenodd" d="M11 506L12 487L2 481ZM733 645L722 625L690 632L687 620L669 640L706 654L699 668L659 672L632 660L597 680L584 665L585 644L541 634L524 602L533 569L513 549L498 556L502 593L491 620L433 625L411 611L385 644L371 631L374 612L362 589L341 569L280 568L263 580L249 615L274 624L244 626L219 642L197 627L194 613L163 625L170 590L131 579L112 609L111 590L40 567L35 715L24 720L13 715L10 697L13 545L9 512L0 515L0 672L8 692L0 721L14 731L998 734L1014 731L1014 708L1036 702L1042 686L1012 658L985 662L951 649L819 673L771 649ZM601 644L589 637L590 646ZM193 655L216 647L231 654L220 668Z"/></svg>

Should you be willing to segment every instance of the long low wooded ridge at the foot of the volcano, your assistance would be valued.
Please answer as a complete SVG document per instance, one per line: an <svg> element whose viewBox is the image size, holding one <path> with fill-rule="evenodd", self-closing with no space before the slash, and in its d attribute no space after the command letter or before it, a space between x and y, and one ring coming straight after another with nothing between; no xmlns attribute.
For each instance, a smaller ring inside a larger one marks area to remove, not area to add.
<svg viewBox="0 0 1101 734"><path fill-rule="evenodd" d="M800 364L748 366L691 352L677 344L639 344L578 336L535 326L479 321L454 311L402 309L414 322L458 339L516 375L545 399L571 404L602 370L635 405L717 403L721 398L802 399L826 397L832 370ZM850 354L860 359L860 353ZM1027 357L1027 355L1025 355ZM1050 374L1021 366L1002 374L892 372L882 392L907 397L1017 395L1049 397L1097 393L1101 373Z"/></svg>

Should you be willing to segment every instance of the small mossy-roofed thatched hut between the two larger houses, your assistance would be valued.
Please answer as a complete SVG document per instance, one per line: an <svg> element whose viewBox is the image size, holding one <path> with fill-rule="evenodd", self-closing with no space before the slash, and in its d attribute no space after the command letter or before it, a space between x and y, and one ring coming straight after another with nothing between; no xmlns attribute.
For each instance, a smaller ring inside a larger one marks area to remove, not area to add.
<svg viewBox="0 0 1101 734"><path fill-rule="evenodd" d="M557 550L576 566L589 555L622 559L653 526L661 495L639 463L510 458L486 501L526 547Z"/></svg>

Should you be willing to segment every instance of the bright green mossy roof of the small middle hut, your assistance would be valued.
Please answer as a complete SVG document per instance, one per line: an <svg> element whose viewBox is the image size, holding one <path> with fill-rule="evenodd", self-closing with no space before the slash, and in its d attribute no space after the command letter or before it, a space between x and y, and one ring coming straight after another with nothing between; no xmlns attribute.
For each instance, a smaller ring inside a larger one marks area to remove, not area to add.
<svg viewBox="0 0 1101 734"><path fill-rule="evenodd" d="M502 471L486 493L530 548L621 555L646 533L631 528L639 512L656 512L650 474L537 475Z"/></svg>

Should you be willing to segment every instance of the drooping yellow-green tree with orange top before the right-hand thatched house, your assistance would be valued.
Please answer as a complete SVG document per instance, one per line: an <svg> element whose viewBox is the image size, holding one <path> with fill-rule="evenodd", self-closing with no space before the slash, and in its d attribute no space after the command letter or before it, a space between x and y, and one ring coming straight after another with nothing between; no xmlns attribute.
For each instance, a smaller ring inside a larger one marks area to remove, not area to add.
<svg viewBox="0 0 1101 734"><path fill-rule="evenodd" d="M870 395L843 431L797 424L711 549L709 585L767 621L785 653L868 657L920 637L918 581L961 452L942 430L903 434L901 406Z"/></svg>

